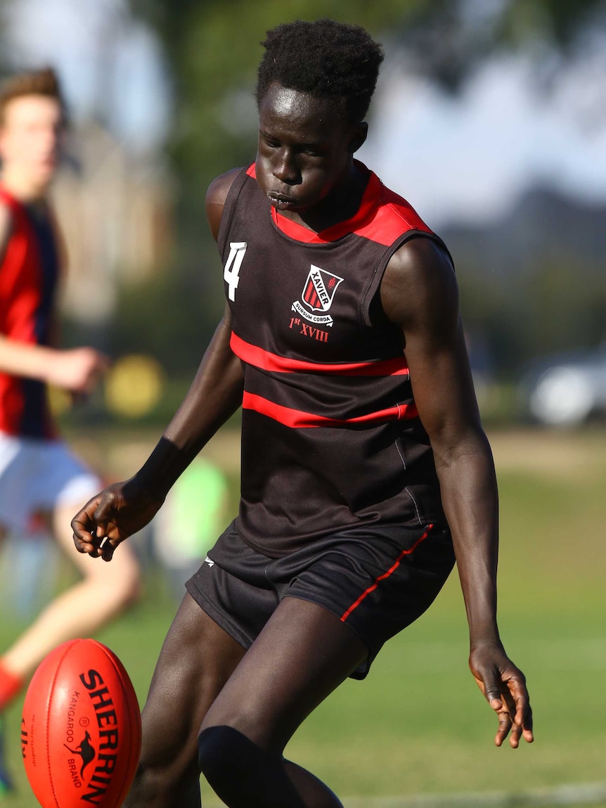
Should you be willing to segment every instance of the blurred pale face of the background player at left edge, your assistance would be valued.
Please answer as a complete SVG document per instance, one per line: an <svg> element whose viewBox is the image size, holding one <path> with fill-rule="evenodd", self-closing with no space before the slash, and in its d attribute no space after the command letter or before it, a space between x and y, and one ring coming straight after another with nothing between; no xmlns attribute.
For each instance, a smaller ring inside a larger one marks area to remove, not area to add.
<svg viewBox="0 0 606 808"><path fill-rule="evenodd" d="M5 171L18 172L32 187L53 179L64 129L61 105L44 95L23 95L6 104L0 127Z"/></svg>

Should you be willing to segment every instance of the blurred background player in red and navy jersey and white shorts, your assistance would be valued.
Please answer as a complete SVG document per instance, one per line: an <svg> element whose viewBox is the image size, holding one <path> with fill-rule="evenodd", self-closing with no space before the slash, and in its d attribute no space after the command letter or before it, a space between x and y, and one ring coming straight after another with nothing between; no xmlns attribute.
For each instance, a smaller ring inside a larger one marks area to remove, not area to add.
<svg viewBox="0 0 606 808"><path fill-rule="evenodd" d="M74 552L69 520L99 480L58 438L47 385L75 398L94 389L107 359L90 347L54 347L56 292L64 256L46 199L57 168L65 106L52 69L20 74L0 88L0 539L44 517L83 578L57 597L0 655L2 710L58 643L94 633L137 593L133 553L116 570ZM10 788L2 761L0 793Z"/></svg>

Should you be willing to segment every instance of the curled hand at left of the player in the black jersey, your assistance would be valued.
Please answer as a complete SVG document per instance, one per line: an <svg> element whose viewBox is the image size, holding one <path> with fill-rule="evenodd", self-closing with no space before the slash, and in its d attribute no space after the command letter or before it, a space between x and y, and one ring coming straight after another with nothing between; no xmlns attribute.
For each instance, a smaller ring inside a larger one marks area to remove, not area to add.
<svg viewBox="0 0 606 808"><path fill-rule="evenodd" d="M145 528L161 506L162 500L154 499L135 478L107 486L72 520L76 549L112 561L120 542Z"/></svg>

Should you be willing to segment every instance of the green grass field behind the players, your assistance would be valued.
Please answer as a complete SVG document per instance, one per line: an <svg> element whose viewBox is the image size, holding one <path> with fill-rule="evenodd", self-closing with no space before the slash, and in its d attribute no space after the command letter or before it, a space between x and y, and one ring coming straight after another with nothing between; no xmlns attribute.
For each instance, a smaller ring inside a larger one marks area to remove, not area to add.
<svg viewBox="0 0 606 808"><path fill-rule="evenodd" d="M537 740L517 751L494 747L494 718L467 670L453 575L434 607L385 646L368 679L347 681L288 747L343 797L367 798L356 806L606 781L606 432L490 437L502 503L500 627L528 676ZM221 440L209 451L233 473L229 437ZM162 582L150 580L141 604L99 635L120 655L141 704L172 608ZM0 647L18 629L3 619ZM19 793L2 801L6 808L35 805L19 761L19 709L7 715ZM219 805L208 788L203 796L208 808Z"/></svg>

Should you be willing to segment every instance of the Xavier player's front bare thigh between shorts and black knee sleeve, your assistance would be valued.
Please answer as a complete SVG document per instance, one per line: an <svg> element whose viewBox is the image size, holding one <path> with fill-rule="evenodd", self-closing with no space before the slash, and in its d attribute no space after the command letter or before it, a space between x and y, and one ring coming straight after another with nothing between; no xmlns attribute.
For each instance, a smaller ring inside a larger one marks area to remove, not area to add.
<svg viewBox="0 0 606 808"><path fill-rule="evenodd" d="M367 654L360 638L334 614L286 597L217 691L200 730L232 726L259 747L281 754L301 722Z"/></svg>

